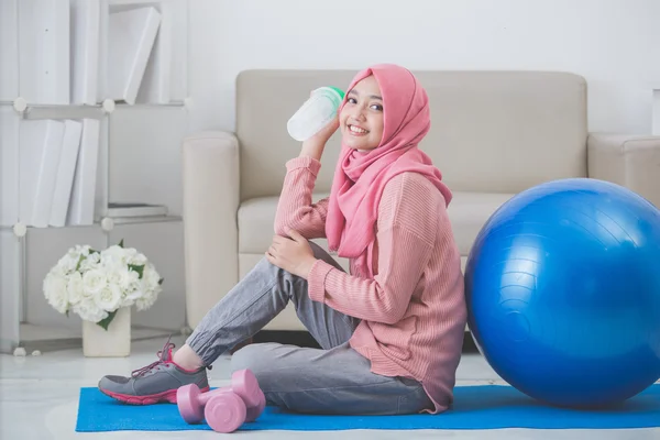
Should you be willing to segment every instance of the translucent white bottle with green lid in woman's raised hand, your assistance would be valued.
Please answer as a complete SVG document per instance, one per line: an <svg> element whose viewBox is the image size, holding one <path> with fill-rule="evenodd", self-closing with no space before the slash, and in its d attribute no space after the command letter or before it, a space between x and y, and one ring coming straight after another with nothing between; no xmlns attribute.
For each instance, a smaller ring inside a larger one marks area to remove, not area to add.
<svg viewBox="0 0 660 440"><path fill-rule="evenodd" d="M337 87L320 87L288 120L286 129L296 141L305 141L318 133L337 116L344 92Z"/></svg>

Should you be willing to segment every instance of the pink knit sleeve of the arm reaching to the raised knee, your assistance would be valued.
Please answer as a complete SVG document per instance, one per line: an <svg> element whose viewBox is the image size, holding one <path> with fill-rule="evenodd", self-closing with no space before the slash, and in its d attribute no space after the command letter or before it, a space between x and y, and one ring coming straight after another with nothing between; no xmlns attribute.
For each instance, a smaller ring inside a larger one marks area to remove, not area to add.
<svg viewBox="0 0 660 440"><path fill-rule="evenodd" d="M378 215L378 274L362 278L317 261L308 275L308 294L345 315L384 323L396 323L432 253L438 223L436 195L414 188L406 178L395 178L383 193ZM410 195L413 195L410 197Z"/></svg>

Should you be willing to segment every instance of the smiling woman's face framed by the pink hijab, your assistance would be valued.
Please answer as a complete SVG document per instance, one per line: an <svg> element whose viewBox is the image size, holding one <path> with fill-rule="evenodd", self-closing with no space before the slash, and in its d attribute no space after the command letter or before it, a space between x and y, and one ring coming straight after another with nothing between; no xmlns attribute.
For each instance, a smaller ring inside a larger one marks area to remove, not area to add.
<svg viewBox="0 0 660 440"><path fill-rule="evenodd" d="M339 114L343 143L355 150L371 151L383 138L383 98L378 81L371 75L349 90Z"/></svg>

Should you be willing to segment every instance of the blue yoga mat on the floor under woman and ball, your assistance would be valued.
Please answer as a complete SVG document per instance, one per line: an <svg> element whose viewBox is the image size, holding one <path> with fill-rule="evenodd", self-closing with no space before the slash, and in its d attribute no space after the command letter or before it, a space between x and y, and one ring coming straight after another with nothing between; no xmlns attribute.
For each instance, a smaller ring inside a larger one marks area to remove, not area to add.
<svg viewBox="0 0 660 440"><path fill-rule="evenodd" d="M240 430L329 431L345 429L614 429L660 427L660 385L656 384L617 409L583 411L544 406L510 386L459 386L454 407L440 415L310 416L267 407ZM97 388L81 388L76 431L210 430L187 425L176 405L130 406Z"/></svg>

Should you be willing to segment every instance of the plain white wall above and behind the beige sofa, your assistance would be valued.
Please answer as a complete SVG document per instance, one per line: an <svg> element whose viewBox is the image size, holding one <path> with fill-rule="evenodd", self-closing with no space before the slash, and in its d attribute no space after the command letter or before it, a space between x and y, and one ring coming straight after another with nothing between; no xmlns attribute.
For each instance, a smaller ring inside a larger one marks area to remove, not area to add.
<svg viewBox="0 0 660 440"><path fill-rule="evenodd" d="M543 69L588 81L590 130L649 133L660 0L189 0L190 129L234 128L248 68Z"/></svg>

